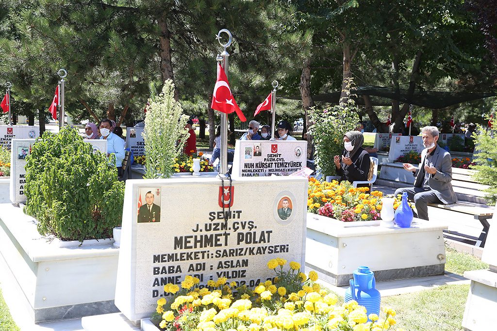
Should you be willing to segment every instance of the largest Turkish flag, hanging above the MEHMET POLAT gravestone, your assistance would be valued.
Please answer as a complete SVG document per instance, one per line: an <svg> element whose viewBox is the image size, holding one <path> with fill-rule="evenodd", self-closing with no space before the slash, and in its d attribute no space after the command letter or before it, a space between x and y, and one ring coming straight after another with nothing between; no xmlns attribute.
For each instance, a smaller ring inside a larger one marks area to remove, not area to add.
<svg viewBox="0 0 497 331"><path fill-rule="evenodd" d="M216 85L214 85L214 92L212 93L211 108L220 111L221 113L231 114L237 112L238 117L242 122L247 121L242 110L238 107L233 94L231 93L228 77L224 73L224 69L218 63L218 77Z"/></svg>

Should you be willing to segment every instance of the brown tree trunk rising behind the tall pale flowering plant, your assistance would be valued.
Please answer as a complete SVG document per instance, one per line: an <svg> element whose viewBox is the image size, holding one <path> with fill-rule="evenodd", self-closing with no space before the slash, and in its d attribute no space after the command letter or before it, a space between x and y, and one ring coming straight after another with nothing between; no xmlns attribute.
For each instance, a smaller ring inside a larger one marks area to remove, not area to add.
<svg viewBox="0 0 497 331"><path fill-rule="evenodd" d="M171 33L167 27L167 15L168 12L163 12L159 16L157 22L159 24L159 29L161 30L159 34L159 56L160 56L160 69L162 82L165 83L167 79L172 80L174 83L174 75L172 73L172 60L171 60ZM174 99L178 101L178 89L174 84Z"/></svg>

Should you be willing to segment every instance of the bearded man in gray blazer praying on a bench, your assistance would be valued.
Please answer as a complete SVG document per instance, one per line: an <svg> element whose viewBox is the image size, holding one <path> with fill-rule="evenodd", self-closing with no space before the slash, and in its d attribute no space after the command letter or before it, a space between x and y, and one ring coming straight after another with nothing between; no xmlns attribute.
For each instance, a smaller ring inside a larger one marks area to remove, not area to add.
<svg viewBox="0 0 497 331"><path fill-rule="evenodd" d="M414 200L417 215L428 219L427 203L454 203L456 194L452 189L452 158L449 152L437 145L438 129L424 127L421 129L423 145L419 169L410 163L404 163L404 169L412 171L416 177L413 188L402 188L395 191L395 196L407 192L410 200Z"/></svg>

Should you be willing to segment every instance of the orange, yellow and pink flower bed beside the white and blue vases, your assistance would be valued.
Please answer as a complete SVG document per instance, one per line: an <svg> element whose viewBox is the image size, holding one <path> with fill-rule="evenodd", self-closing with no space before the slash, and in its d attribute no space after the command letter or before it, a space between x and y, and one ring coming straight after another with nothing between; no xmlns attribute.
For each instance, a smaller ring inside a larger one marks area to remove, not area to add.
<svg viewBox="0 0 497 331"><path fill-rule="evenodd" d="M383 193L368 188L354 188L347 181L320 182L309 178L307 211L343 222L380 219Z"/></svg>

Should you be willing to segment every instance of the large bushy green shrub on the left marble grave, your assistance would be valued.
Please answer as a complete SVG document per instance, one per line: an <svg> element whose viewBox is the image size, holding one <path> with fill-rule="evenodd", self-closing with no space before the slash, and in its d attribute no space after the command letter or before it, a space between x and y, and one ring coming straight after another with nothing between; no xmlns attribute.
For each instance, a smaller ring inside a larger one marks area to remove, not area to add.
<svg viewBox="0 0 497 331"><path fill-rule="evenodd" d="M38 220L40 234L79 241L112 237L124 200L113 158L93 151L70 127L36 139L26 164L24 212Z"/></svg>

